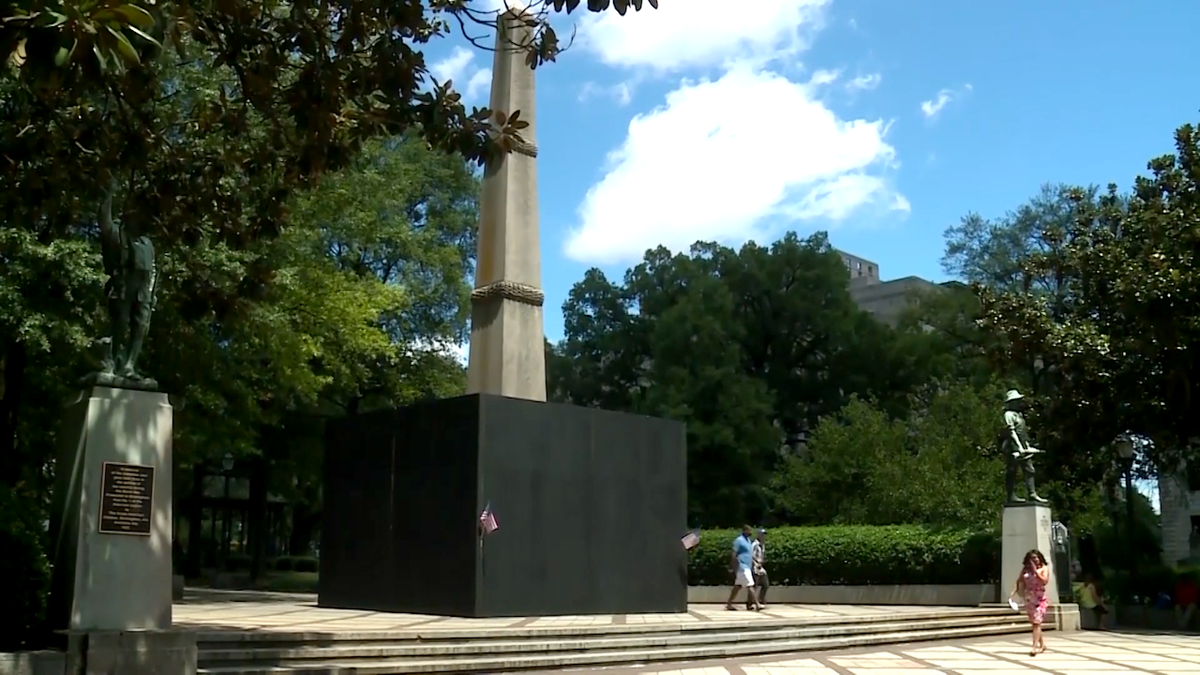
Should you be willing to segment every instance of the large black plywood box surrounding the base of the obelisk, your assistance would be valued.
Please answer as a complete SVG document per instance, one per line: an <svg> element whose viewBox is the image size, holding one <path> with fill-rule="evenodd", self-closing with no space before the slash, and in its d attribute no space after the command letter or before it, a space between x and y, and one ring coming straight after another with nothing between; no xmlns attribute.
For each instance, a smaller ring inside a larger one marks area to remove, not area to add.
<svg viewBox="0 0 1200 675"><path fill-rule="evenodd" d="M320 607L686 611L678 422L469 395L340 419L325 441Z"/></svg>

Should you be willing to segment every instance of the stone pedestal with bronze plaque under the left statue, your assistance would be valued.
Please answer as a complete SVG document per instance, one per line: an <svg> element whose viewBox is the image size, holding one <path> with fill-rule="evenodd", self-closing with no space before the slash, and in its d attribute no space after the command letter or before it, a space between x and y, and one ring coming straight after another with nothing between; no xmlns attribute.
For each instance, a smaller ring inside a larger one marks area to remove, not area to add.
<svg viewBox="0 0 1200 675"><path fill-rule="evenodd" d="M170 452L167 394L92 387L68 405L50 521L52 628L170 628Z"/></svg>

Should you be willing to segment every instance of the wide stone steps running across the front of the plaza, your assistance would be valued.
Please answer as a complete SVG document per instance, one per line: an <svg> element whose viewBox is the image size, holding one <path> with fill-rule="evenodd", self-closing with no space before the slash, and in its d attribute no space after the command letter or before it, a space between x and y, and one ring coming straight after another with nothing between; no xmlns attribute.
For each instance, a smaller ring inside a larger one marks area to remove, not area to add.
<svg viewBox="0 0 1200 675"><path fill-rule="evenodd" d="M1004 635L1028 631L1002 609L827 620L575 626L494 631L198 634L200 674L388 675L631 665Z"/></svg>

